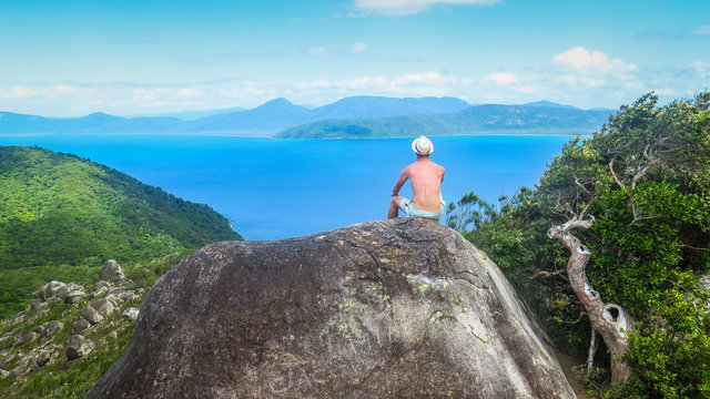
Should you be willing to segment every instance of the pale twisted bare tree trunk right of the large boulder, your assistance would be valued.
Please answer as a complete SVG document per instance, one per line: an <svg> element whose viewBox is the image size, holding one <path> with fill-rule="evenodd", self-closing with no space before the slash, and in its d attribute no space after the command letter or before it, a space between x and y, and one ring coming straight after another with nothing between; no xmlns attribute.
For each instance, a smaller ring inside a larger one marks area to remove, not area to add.
<svg viewBox="0 0 710 399"><path fill-rule="evenodd" d="M561 226L554 226L547 235L559 241L570 256L567 262L569 284L587 311L591 328L604 339L611 355L611 382L626 383L631 377L631 368L619 358L629 347L626 331L632 330L633 319L623 308L616 304L605 304L599 293L594 290L587 279L586 268L591 253L570 231L576 227L589 228L592 221L580 221L576 217Z"/></svg>

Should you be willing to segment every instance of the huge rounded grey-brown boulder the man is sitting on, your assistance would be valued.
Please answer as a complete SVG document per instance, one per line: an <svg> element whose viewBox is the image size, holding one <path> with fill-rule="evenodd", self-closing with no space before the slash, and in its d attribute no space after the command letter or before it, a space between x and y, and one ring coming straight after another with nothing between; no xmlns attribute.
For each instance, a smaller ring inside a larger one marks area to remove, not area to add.
<svg viewBox="0 0 710 399"><path fill-rule="evenodd" d="M407 217L207 245L87 398L574 398L497 266Z"/></svg>

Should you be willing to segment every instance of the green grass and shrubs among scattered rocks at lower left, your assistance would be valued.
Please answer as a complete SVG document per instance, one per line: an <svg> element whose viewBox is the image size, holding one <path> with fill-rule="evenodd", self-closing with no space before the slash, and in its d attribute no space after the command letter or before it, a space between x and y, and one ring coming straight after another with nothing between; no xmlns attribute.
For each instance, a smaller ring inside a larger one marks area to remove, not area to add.
<svg viewBox="0 0 710 399"><path fill-rule="evenodd" d="M126 277L133 280L126 289L140 291L139 287L150 286L156 278L165 274L172 266L189 252L171 255L145 264L123 265ZM91 287L98 280L98 270L91 273L87 279L85 287ZM41 286L41 285L40 285ZM34 289L40 286L34 287ZM139 297L121 303L120 307L140 308L146 290ZM3 356L14 357L3 369L12 370L22 357L36 357L42 349L60 351L58 358L52 358L49 364L37 371L19 378L0 378L0 397L2 398L83 398L97 380L123 355L133 338L134 324L129 321L120 310L114 311L99 325L83 332L85 338L97 344L94 350L89 355L75 360L71 367L64 365L65 356L63 348L67 340L73 335L72 323L79 319L81 309L89 300L93 301L104 297L105 294L97 298L87 298L75 304L64 304L63 301L51 301L39 308L30 307L23 313L22 318L17 324L10 320L0 323L0 337L9 337L29 331L33 326L39 326L45 321L59 320L63 324L51 338L40 339L19 347L9 347L3 350ZM115 331L115 334L113 334ZM3 344L0 338L0 344ZM0 356L0 360L3 356Z"/></svg>

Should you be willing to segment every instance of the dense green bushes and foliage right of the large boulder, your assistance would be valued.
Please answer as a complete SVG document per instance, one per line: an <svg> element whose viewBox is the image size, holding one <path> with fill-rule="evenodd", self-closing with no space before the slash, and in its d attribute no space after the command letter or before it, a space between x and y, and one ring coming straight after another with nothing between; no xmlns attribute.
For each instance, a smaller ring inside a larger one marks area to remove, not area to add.
<svg viewBox="0 0 710 399"><path fill-rule="evenodd" d="M587 221L572 233L591 252L589 284L636 320L618 359L630 382L605 396L709 398L710 314L696 276L710 267L710 92L657 101L646 94L571 141L536 190L499 207L471 193L448 222L498 263L556 345L581 355L590 318L565 273L569 252L547 231Z"/></svg>

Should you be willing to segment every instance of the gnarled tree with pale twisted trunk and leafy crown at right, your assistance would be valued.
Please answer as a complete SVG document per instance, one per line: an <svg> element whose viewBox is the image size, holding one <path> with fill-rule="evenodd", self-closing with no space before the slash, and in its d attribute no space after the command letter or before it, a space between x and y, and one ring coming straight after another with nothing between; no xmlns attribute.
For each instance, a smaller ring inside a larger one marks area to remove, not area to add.
<svg viewBox="0 0 710 399"><path fill-rule="evenodd" d="M631 368L622 356L629 349L635 316L618 304L605 303L592 287L586 273L592 252L572 231L591 228L595 218L588 215L590 205L609 196L612 191L621 191L627 197L626 213L631 215L627 228L643 221L662 218L653 212L655 206L639 201L639 197L648 195L649 190L659 191L657 186L640 190L639 185L656 170L663 182L678 174L679 170L687 170L689 165L707 158L703 142L696 141L692 134L697 130L697 113L688 112L692 106L707 112L707 95L700 95L694 103L676 102L665 108L657 108L657 96L646 94L633 105L622 106L592 140L581 145L577 145L578 141L570 143L550 165L541 183L541 190L557 197L556 208L569 217L566 223L552 226L548 236L560 242L570 253L567 263L569 284L591 327L607 345L611 355L611 380L620 385L631 378ZM682 193L667 196L682 196ZM692 202L693 198L690 200ZM606 213L611 209L599 211ZM697 211L697 215L703 214L702 209ZM605 245L612 246L609 243ZM628 248L615 249L633 262L643 260L638 258L641 255Z"/></svg>

